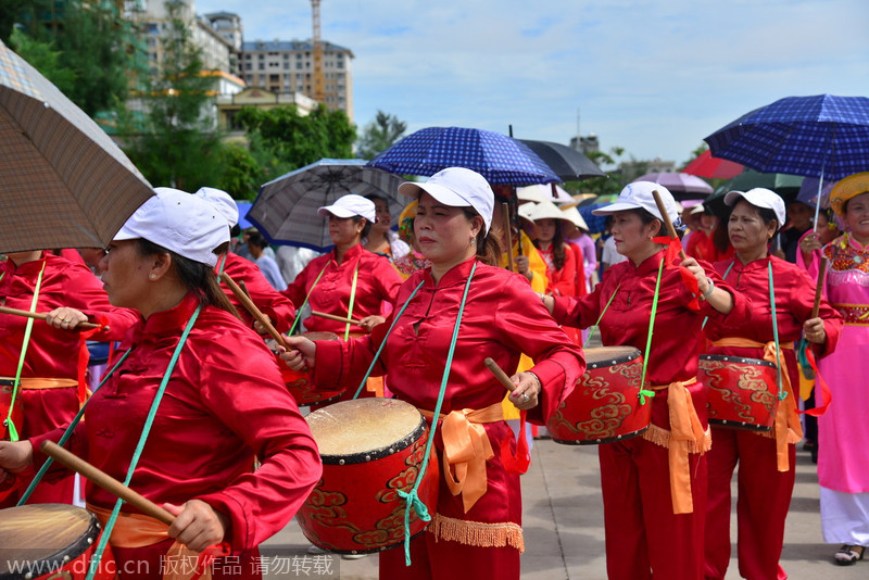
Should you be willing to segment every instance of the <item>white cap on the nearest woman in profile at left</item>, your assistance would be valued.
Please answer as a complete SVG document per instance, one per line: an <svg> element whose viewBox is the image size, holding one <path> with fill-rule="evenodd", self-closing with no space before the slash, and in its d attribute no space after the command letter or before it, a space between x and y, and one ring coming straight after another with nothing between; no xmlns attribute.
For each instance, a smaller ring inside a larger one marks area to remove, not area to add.
<svg viewBox="0 0 869 580"><path fill-rule="evenodd" d="M114 239L143 238L193 262L217 264L214 249L229 241L226 218L214 205L186 191L158 187L154 192Z"/></svg>

